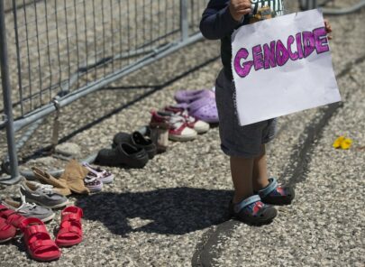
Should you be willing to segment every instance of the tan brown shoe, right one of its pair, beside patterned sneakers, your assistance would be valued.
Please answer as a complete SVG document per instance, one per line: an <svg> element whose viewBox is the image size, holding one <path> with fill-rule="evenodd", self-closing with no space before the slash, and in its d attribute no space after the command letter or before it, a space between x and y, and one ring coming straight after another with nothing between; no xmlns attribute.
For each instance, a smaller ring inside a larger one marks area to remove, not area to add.
<svg viewBox="0 0 365 267"><path fill-rule="evenodd" d="M65 171L62 173L59 180L65 181L68 189L78 194L88 194L90 190L84 184L84 179L87 177L88 170L83 167L78 161L68 161Z"/></svg>

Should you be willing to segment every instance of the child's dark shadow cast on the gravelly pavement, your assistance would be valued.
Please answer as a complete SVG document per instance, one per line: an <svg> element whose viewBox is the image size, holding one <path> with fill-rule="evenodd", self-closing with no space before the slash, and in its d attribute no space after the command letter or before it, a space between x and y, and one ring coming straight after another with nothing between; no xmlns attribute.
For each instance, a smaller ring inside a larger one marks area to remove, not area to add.
<svg viewBox="0 0 365 267"><path fill-rule="evenodd" d="M85 219L100 221L116 235L136 231L184 235L226 221L231 198L228 190L175 188L106 192L79 198L76 205L83 208ZM139 219L131 225L133 218Z"/></svg>

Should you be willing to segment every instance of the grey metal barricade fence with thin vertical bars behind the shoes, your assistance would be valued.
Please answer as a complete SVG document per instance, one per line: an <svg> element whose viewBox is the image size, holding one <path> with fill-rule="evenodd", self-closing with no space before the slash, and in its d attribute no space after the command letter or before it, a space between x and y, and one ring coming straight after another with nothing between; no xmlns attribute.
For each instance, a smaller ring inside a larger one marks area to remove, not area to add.
<svg viewBox="0 0 365 267"><path fill-rule="evenodd" d="M304 9L319 5L317 0L299 2ZM16 131L200 40L198 23L206 3L0 0L0 130L6 128L11 170L11 179L1 182L19 178Z"/></svg>

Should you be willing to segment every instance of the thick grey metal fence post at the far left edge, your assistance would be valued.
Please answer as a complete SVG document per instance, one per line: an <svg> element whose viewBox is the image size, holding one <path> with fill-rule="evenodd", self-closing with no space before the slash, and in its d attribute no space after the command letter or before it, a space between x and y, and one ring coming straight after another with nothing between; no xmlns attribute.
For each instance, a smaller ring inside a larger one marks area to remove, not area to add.
<svg viewBox="0 0 365 267"><path fill-rule="evenodd" d="M16 147L14 140L14 117L13 105L9 78L9 66L7 61L7 46L6 46L6 32L5 32L5 12L4 1L0 1L0 69L1 80L3 86L4 97L4 111L7 119L6 122L6 141L10 161L11 178L7 180L0 180L0 183L14 184L20 180L18 159L16 157Z"/></svg>

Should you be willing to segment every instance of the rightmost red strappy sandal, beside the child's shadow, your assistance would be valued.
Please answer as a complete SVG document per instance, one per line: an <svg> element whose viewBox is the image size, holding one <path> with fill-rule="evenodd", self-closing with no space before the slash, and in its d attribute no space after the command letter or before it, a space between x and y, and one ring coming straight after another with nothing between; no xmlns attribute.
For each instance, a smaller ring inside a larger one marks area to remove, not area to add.
<svg viewBox="0 0 365 267"><path fill-rule="evenodd" d="M56 244L59 246L71 246L82 241L82 216L83 212L79 207L70 206L62 210Z"/></svg>

